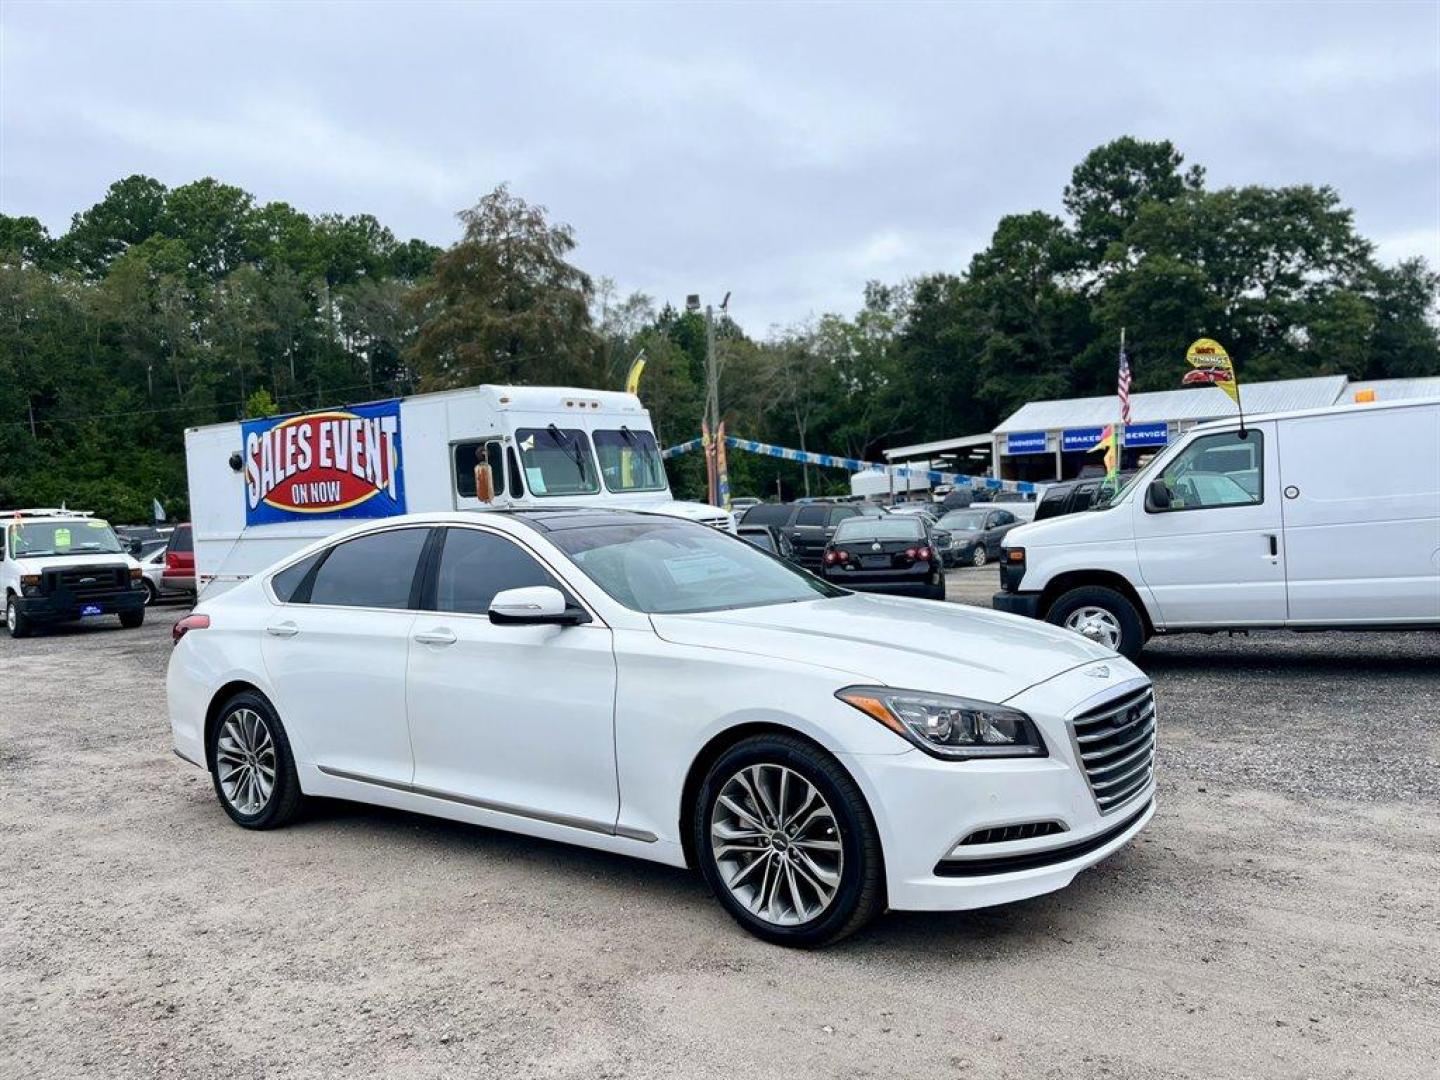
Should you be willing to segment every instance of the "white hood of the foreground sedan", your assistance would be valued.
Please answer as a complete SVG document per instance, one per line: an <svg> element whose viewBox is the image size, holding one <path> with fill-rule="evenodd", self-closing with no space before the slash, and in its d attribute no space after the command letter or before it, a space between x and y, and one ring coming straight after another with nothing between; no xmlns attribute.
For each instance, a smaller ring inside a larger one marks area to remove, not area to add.
<svg viewBox="0 0 1440 1080"><path fill-rule="evenodd" d="M871 683L1004 701L1080 664L1113 658L1079 634L937 600L850 593L765 608L652 615L665 641L834 668Z"/></svg>

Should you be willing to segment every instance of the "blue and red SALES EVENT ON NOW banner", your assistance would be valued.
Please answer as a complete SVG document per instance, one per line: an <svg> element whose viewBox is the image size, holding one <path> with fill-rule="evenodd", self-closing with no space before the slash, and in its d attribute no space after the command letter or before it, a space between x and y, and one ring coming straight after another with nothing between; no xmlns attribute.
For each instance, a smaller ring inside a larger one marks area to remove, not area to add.
<svg viewBox="0 0 1440 1080"><path fill-rule="evenodd" d="M405 513L400 403L245 420L245 524Z"/></svg>

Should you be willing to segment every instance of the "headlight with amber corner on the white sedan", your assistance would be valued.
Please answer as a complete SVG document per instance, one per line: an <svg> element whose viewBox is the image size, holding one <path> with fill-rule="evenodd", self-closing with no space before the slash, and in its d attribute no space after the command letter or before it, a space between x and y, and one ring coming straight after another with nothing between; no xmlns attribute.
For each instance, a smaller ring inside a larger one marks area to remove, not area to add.
<svg viewBox="0 0 1440 1080"><path fill-rule="evenodd" d="M936 757L1043 757L1035 723L1018 708L891 687L845 687L835 697Z"/></svg>

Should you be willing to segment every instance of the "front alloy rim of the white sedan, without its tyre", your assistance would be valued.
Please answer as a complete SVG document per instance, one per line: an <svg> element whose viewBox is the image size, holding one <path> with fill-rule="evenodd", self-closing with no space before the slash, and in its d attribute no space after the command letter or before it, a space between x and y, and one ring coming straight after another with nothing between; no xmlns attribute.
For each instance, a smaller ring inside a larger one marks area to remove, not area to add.
<svg viewBox="0 0 1440 1080"><path fill-rule="evenodd" d="M750 914L798 926L834 903L844 868L840 822L814 783L783 765L734 773L710 814L720 880Z"/></svg>

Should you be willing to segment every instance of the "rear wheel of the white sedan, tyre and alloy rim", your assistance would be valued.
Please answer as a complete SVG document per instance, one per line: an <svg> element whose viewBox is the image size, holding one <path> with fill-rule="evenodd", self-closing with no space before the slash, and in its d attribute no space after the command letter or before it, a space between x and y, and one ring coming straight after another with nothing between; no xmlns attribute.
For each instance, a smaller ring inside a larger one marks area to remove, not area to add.
<svg viewBox="0 0 1440 1080"><path fill-rule="evenodd" d="M304 796L289 739L269 701L253 691L232 697L209 743L215 795L236 825L272 829L294 821Z"/></svg>

